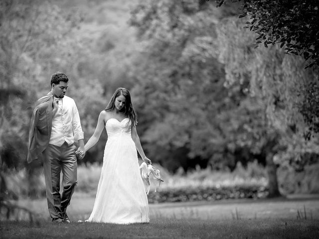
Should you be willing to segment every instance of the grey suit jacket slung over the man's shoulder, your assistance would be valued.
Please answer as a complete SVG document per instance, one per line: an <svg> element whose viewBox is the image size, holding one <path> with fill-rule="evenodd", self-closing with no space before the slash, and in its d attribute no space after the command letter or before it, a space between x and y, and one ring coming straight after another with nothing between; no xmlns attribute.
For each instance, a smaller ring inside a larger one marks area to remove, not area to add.
<svg viewBox="0 0 319 239"><path fill-rule="evenodd" d="M53 95L49 92L36 102L29 128L27 161L42 159L42 152L49 144L52 128Z"/></svg>

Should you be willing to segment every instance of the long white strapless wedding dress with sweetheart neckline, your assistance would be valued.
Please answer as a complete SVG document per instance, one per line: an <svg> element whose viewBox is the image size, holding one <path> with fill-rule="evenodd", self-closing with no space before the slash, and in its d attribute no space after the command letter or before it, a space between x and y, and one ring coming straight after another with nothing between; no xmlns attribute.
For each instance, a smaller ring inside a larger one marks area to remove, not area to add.
<svg viewBox="0 0 319 239"><path fill-rule="evenodd" d="M87 222L131 224L150 221L148 198L141 178L131 124L109 119L96 199Z"/></svg>

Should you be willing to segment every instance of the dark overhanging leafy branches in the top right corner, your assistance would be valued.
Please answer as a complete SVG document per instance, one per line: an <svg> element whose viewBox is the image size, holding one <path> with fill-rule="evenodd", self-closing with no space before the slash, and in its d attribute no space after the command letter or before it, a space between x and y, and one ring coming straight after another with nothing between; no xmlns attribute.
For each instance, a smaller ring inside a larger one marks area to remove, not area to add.
<svg viewBox="0 0 319 239"><path fill-rule="evenodd" d="M217 6L224 5L226 0L216 0ZM241 2L241 14L245 17L245 28L257 33L255 44L265 47L280 43L286 45L285 52L303 56L306 66L315 68L315 78L308 81L301 94L304 96L298 107L308 129L304 137L310 139L319 132L319 2L317 0L232 0ZM252 40L253 42L253 40Z"/></svg>

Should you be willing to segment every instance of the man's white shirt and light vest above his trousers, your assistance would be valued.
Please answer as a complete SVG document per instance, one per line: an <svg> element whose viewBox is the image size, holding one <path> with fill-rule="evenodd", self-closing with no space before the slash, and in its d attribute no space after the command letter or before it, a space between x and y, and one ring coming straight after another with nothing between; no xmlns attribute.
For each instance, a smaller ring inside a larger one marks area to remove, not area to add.
<svg viewBox="0 0 319 239"><path fill-rule="evenodd" d="M71 145L79 139L84 138L80 116L75 102L72 98L54 97L54 107L58 107L55 115L52 116L52 130L50 144L61 146L64 142Z"/></svg>

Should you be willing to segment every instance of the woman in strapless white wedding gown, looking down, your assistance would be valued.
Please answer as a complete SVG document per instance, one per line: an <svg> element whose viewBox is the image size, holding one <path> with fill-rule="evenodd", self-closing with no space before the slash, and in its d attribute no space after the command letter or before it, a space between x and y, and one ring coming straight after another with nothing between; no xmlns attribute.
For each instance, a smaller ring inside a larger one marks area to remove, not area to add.
<svg viewBox="0 0 319 239"><path fill-rule="evenodd" d="M108 139L101 177L93 211L86 222L149 223L149 204L137 151L148 165L152 162L145 156L136 124L130 92L118 88L100 113L95 132L84 146L85 151L89 150L106 128Z"/></svg>

